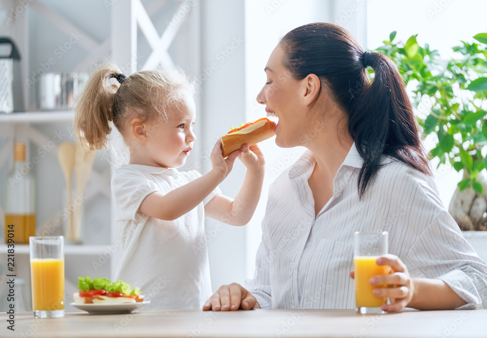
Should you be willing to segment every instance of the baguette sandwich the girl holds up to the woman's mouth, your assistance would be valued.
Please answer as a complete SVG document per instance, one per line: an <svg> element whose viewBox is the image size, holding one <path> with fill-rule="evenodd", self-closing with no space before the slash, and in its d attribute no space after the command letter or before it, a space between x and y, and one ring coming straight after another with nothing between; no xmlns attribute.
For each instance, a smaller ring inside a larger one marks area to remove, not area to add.
<svg viewBox="0 0 487 338"><path fill-rule="evenodd" d="M274 136L274 128L276 123L266 117L242 124L240 128L232 127L226 135L222 136L223 157L239 150L244 144L251 146Z"/></svg>

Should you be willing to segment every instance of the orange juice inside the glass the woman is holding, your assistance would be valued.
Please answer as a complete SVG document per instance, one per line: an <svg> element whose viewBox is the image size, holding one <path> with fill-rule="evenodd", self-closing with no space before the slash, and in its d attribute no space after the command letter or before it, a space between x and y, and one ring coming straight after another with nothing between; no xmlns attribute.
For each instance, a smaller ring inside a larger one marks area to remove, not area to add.
<svg viewBox="0 0 487 338"><path fill-rule="evenodd" d="M355 302L357 307L380 307L386 302L386 298L376 297L373 294L373 290L380 286L372 286L369 283L369 280L376 275L388 274L389 267L387 265L375 264L377 258L379 256L354 257Z"/></svg>

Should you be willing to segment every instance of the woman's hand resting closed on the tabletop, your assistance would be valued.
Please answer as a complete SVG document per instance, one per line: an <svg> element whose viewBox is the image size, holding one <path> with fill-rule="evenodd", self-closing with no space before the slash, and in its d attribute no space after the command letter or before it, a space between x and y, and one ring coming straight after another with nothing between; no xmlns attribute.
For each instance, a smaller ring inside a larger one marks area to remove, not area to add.
<svg viewBox="0 0 487 338"><path fill-rule="evenodd" d="M203 311L235 311L238 309L251 310L259 307L255 297L248 292L242 285L231 283L222 285L220 288L206 300L203 305Z"/></svg>

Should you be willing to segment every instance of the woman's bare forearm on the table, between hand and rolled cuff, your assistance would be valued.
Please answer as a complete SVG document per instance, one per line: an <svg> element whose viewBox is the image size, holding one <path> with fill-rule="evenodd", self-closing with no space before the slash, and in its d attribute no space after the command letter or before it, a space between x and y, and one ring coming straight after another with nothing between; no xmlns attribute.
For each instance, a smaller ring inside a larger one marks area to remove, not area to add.
<svg viewBox="0 0 487 338"><path fill-rule="evenodd" d="M418 310L448 310L467 304L439 279L412 278L414 294L408 307Z"/></svg>

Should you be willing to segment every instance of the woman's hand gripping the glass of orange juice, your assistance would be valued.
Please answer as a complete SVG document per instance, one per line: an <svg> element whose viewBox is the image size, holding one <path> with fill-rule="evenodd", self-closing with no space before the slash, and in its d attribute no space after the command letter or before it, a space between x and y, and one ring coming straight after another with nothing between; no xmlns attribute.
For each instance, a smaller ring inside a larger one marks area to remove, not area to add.
<svg viewBox="0 0 487 338"><path fill-rule="evenodd" d="M377 287L374 289L374 295L377 297L389 297L391 304L382 304L380 307L382 311L396 312L401 311L412 300L414 295L414 283L409 276L408 268L399 257L391 254L383 255L375 261L377 265L391 266L393 273L389 275L377 275L370 279L370 284L378 285L392 285L394 287ZM354 271L350 273L350 277L354 278Z"/></svg>

